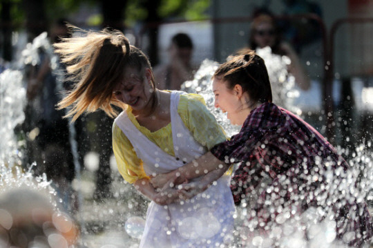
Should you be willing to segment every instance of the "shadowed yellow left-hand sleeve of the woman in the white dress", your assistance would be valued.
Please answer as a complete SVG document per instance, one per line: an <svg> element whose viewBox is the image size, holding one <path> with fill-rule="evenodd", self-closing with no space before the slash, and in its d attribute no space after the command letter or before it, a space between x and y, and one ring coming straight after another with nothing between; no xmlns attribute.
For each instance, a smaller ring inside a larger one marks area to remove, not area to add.
<svg viewBox="0 0 373 248"><path fill-rule="evenodd" d="M116 124L113 126L113 152L118 171L124 180L132 184L136 180L149 178L142 167L142 160L137 157L131 142Z"/></svg>

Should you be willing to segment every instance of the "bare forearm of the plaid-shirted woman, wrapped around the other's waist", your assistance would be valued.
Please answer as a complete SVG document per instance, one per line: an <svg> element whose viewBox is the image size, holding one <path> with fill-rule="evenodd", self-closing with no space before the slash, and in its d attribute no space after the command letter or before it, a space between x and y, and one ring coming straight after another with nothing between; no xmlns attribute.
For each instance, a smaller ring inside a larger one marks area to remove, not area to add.
<svg viewBox="0 0 373 248"><path fill-rule="evenodd" d="M175 182L175 184L181 184L183 182L188 182L188 180L193 178L207 175L210 171L217 171L209 175L207 178L203 178L201 181L210 184L214 180L220 178L228 168L228 164L218 160L211 152L207 152L200 156L200 158L193 160L189 164L185 164L174 171L151 178L151 184L153 184L153 187L155 188L162 188L164 184L170 180Z"/></svg>

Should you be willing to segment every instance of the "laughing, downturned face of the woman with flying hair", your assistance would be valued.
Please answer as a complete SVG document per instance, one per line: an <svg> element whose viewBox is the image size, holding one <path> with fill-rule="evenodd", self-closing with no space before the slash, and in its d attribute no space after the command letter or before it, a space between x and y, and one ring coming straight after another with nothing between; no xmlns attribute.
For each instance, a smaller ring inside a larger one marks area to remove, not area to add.
<svg viewBox="0 0 373 248"><path fill-rule="evenodd" d="M140 73L135 68L128 67L124 69L124 79L115 86L113 95L120 102L131 106L134 112L138 112L149 107L153 92L151 70L146 68L144 73Z"/></svg>

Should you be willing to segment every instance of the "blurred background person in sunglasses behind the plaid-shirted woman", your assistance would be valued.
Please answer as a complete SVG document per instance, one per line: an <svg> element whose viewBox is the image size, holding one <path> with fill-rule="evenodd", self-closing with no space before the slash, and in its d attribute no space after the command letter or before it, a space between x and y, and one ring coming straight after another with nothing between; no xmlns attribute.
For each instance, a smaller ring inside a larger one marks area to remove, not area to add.
<svg viewBox="0 0 373 248"><path fill-rule="evenodd" d="M291 48L290 44L282 40L274 17L268 13L258 14L254 17L249 37L249 48L256 50L265 47L270 47L271 53L275 55L289 57L290 64L287 69L295 77L296 85L302 90L309 89L309 77L300 64L296 51Z"/></svg>

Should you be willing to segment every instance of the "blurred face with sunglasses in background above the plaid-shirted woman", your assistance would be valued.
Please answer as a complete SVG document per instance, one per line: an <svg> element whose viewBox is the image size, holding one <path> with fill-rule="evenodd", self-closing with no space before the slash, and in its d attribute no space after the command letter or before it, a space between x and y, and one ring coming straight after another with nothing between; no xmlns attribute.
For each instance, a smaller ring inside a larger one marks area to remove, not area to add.
<svg viewBox="0 0 373 248"><path fill-rule="evenodd" d="M262 22L253 30L254 41L258 44L259 48L265 48L266 46L274 46L276 37L274 26L269 22Z"/></svg>

